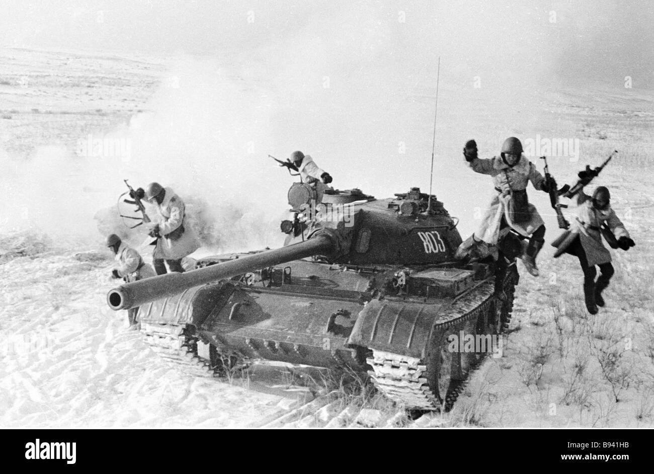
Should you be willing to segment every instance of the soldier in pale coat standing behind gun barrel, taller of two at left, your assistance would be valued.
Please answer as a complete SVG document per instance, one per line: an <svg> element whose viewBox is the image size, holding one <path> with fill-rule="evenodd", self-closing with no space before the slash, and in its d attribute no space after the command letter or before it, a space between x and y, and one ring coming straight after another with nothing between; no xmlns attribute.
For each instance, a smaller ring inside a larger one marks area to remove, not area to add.
<svg viewBox="0 0 654 474"><path fill-rule="evenodd" d="M154 225L149 235L156 237L156 247L152 252L152 263L157 275L167 273L165 263L170 271L184 273L182 258L199 248L199 240L193 229L186 222L184 201L171 188L163 188L158 182L151 182L145 188L135 191L139 198L145 197L157 211ZM165 261L165 263L164 263Z"/></svg>

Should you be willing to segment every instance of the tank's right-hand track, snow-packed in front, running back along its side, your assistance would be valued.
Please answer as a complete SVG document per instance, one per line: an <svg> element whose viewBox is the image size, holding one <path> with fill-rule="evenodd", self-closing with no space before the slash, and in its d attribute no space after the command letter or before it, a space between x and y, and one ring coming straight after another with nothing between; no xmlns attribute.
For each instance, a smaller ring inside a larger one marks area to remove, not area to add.
<svg viewBox="0 0 654 474"><path fill-rule="evenodd" d="M513 297L515 290L515 271L509 269L502 285L506 300L502 303L499 322L495 328L501 328L500 333L506 331L511 319ZM441 318L434 327L434 334L441 336L439 341L432 342L431 355L441 357L443 362L430 356L420 359L392 352L373 350L373 356L367 362L371 365L368 371L377 390L388 398L402 403L408 409L434 411L449 411L456 398L465 388L470 374L480 365L488 354L461 354L447 351L447 334L458 334L468 327L477 326L480 318L486 312L493 311L494 284L487 282L477 286L472 292L461 297L452 305L451 309ZM470 326L474 323L475 326ZM447 333L444 331L447 330ZM496 330L492 331L497 333ZM442 354L442 355L441 355ZM452 363L454 360L454 364ZM430 367L431 365L431 367ZM449 373L442 373L442 368L448 367ZM455 377L453 377L455 375ZM441 395L439 392L445 392Z"/></svg>

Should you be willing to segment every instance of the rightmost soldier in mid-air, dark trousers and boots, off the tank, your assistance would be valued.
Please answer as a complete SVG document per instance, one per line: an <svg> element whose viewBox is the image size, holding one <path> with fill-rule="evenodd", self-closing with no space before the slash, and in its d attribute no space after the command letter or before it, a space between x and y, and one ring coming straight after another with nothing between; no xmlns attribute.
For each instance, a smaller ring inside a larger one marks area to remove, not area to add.
<svg viewBox="0 0 654 474"><path fill-rule="evenodd" d="M609 243L615 241L614 245L622 250L629 250L636 244L611 209L611 195L607 188L599 186L593 197L580 190L572 200L577 204L577 217L572 220L570 230L564 231L552 243L557 247L554 257L568 253L579 258L583 270L583 295L586 309L591 314L597 314L597 307L604 306L602 291L609 286L613 276L611 254L602 244L600 232L604 233L605 238L608 237ZM602 229L602 226L606 227ZM597 281L595 281L597 275L595 265L600 267L600 277Z"/></svg>

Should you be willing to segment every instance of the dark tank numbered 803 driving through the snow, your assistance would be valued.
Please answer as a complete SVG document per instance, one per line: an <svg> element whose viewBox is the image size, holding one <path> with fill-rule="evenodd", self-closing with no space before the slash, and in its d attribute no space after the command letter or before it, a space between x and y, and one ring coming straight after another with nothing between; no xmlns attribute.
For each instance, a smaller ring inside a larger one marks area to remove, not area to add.
<svg viewBox="0 0 654 474"><path fill-rule="evenodd" d="M252 360L348 369L407 409L451 408L508 327L515 258L456 260L458 221L419 188L375 199L296 183L288 199L283 247L123 284L109 306L138 307L150 347L194 375Z"/></svg>

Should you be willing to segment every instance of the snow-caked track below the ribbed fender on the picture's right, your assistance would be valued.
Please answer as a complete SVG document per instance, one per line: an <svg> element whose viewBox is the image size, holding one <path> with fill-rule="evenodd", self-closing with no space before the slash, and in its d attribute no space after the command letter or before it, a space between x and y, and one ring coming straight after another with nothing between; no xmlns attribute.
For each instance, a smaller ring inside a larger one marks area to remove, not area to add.
<svg viewBox="0 0 654 474"><path fill-rule="evenodd" d="M502 333L508 328L513 309L514 275L513 271L509 271L504 279L503 289L507 296L507 305L502 309L502 320L500 321L500 327L502 328L500 332ZM441 318L444 320L436 324L436 329L459 331L466 322L476 320L483 311L487 311L492 302L493 294L494 284L492 282L477 287L470 294L455 301L445 318ZM377 390L388 398L419 411L440 409L449 411L459 394L464 390L470 374L481 365L483 360L484 357L477 358L463 374L463 380L451 381L443 401L444 406L441 406L436 394L428 385L426 360L373 350L373 356L368 358L367 362L372 367L372 370L368 371L368 375L370 375Z"/></svg>

